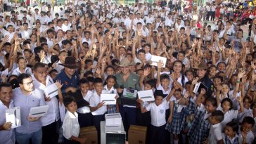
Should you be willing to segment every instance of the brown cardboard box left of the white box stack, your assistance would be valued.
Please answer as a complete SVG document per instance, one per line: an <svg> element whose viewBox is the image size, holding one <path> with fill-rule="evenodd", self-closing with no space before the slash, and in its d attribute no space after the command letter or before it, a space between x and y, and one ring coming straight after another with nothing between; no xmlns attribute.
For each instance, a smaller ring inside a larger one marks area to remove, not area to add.
<svg viewBox="0 0 256 144"><path fill-rule="evenodd" d="M87 126L81 128L79 137L87 138L85 144L98 144L98 133L95 126Z"/></svg>

